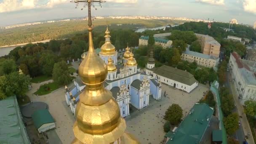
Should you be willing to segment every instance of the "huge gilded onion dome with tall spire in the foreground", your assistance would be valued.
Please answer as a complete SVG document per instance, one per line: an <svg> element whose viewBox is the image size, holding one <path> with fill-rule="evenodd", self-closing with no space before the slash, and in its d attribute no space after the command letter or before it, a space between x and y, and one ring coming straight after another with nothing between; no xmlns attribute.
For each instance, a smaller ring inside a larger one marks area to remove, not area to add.
<svg viewBox="0 0 256 144"><path fill-rule="evenodd" d="M109 144L125 136L125 120L112 93L103 86L107 65L95 53L92 28L89 31L89 50L79 66L85 90L80 94L73 127L73 144Z"/></svg>

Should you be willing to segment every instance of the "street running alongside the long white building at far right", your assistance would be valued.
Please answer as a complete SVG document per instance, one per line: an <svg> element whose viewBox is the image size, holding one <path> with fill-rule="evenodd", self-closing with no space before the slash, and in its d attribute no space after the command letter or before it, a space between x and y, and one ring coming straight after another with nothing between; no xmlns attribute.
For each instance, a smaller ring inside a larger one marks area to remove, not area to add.
<svg viewBox="0 0 256 144"><path fill-rule="evenodd" d="M236 133L233 135L235 139L237 139L239 141L240 144L243 144L243 141L245 139L245 134L247 135L247 133L251 133L250 128L249 128L249 124L248 124L248 120L246 118L246 115L243 112L243 106L240 104L239 100L238 100L238 96L237 94L234 92L234 88L232 89L232 85L230 85L229 80L232 80L232 76L229 74L229 72L226 73L226 86L229 88L229 92L233 95L234 101L235 101L235 109L234 111L242 116L239 117L239 121L241 122L241 125L239 126L239 129L236 131ZM252 134L250 134L251 136L249 136L246 141L248 142L248 144L253 144L253 137Z"/></svg>

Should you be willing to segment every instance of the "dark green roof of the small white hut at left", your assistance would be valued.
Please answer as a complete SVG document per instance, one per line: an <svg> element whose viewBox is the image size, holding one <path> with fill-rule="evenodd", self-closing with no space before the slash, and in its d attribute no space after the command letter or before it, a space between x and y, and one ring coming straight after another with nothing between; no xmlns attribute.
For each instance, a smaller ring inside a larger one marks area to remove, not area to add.
<svg viewBox="0 0 256 144"><path fill-rule="evenodd" d="M32 115L32 119L37 129L40 128L40 126L43 124L55 122L48 109L38 109Z"/></svg>

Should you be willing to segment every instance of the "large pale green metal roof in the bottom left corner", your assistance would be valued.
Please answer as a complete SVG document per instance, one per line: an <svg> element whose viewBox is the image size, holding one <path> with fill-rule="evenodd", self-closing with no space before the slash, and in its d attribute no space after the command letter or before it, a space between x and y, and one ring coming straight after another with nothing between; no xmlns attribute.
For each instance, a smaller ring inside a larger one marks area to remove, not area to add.
<svg viewBox="0 0 256 144"><path fill-rule="evenodd" d="M16 96L0 101L0 144L30 144Z"/></svg>

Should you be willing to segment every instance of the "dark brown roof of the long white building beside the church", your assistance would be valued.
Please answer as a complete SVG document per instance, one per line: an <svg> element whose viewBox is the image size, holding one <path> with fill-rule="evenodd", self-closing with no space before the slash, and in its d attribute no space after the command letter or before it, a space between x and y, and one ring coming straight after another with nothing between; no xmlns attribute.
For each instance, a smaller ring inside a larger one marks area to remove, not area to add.
<svg viewBox="0 0 256 144"><path fill-rule="evenodd" d="M169 67L166 65L163 65L158 68L154 67L154 68L152 68L152 71L157 75L167 77L171 80L175 80L180 83L184 83L186 85L192 85L197 82L197 80L195 80L195 77L192 74L190 74L189 72L181 70L181 69Z"/></svg>

